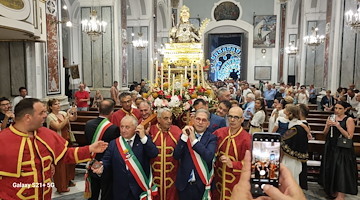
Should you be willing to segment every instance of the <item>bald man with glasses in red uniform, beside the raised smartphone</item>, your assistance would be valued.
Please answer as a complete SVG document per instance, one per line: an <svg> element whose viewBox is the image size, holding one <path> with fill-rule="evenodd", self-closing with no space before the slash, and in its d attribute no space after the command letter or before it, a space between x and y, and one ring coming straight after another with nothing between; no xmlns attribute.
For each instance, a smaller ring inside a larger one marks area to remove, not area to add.
<svg viewBox="0 0 360 200"><path fill-rule="evenodd" d="M214 179L216 190L213 196L221 200L230 199L231 191L241 176L245 152L251 147L251 135L241 127L244 121L242 109L232 107L228 119L229 127L213 133L218 137Z"/></svg>

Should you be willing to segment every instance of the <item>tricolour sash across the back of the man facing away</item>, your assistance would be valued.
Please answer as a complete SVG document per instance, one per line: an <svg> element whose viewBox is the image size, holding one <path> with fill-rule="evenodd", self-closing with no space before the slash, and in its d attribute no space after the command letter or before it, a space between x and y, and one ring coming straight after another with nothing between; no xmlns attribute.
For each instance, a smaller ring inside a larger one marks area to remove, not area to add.
<svg viewBox="0 0 360 200"><path fill-rule="evenodd" d="M97 126L94 136L91 140L91 144L100 141L102 139L102 137L104 136L105 131L112 125L113 123L111 123L107 118L104 118L100 124ZM91 153L91 157L95 158L96 153ZM89 176L89 170L91 170L91 166L90 166L90 162L89 161L86 164L86 172L85 172L85 191L84 191L84 197L86 199L91 197L91 178Z"/></svg>

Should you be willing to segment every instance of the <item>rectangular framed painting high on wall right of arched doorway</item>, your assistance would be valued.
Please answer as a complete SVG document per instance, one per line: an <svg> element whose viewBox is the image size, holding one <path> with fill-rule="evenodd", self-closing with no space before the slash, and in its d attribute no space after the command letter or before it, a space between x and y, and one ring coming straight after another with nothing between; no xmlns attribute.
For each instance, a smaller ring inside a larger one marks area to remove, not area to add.
<svg viewBox="0 0 360 200"><path fill-rule="evenodd" d="M254 48L275 48L276 15L254 16Z"/></svg>

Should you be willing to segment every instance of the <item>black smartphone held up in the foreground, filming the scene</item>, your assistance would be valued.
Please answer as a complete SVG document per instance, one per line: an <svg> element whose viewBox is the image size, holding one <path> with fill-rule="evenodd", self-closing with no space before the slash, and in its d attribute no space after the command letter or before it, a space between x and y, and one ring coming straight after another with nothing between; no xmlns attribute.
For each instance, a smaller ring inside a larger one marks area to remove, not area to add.
<svg viewBox="0 0 360 200"><path fill-rule="evenodd" d="M278 133L254 133L251 160L251 193L254 197L266 196L265 184L279 186L280 141Z"/></svg>

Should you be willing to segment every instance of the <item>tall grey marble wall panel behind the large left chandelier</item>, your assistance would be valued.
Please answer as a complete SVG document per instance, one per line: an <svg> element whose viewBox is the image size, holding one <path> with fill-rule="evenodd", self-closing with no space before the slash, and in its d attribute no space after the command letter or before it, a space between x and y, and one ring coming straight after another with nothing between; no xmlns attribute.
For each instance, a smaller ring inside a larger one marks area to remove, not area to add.
<svg viewBox="0 0 360 200"><path fill-rule="evenodd" d="M81 33L82 80L91 88L107 88L113 83L114 37L112 7L94 7L97 19L107 22L106 32L92 42L86 33ZM90 18L90 7L81 8L81 20Z"/></svg>

